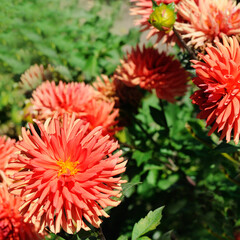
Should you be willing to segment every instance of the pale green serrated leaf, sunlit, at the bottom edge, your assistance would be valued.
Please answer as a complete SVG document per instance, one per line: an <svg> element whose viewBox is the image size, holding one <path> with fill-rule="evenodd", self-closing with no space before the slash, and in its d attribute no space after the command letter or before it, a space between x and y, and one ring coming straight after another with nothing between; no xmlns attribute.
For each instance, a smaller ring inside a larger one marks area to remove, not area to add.
<svg viewBox="0 0 240 240"><path fill-rule="evenodd" d="M139 239L144 234L156 229L162 218L162 210L164 207L150 211L145 218L142 218L138 223L135 223L132 231L132 240Z"/></svg>

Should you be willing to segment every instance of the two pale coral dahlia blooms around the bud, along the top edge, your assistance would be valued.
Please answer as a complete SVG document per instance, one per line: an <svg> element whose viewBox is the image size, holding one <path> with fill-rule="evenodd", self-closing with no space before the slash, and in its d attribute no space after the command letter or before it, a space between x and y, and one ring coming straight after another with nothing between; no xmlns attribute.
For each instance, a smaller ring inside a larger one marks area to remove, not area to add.
<svg viewBox="0 0 240 240"><path fill-rule="evenodd" d="M148 37L157 36L156 42L163 41L175 44L177 38L173 31L165 34L158 31L148 22L153 12L151 0L131 0L133 6L130 14L140 16L136 25L142 27L142 31L150 30ZM221 40L223 35L234 36L240 33L240 5L233 0L158 0L157 4L169 4L174 2L177 10L175 29L187 41L189 46L200 49L206 43Z"/></svg>

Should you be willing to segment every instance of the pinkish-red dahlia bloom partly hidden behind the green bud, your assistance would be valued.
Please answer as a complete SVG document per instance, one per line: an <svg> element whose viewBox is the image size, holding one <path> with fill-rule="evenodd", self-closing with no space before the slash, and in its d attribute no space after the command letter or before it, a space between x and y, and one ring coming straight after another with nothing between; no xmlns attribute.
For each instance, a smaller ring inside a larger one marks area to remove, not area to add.
<svg viewBox="0 0 240 240"><path fill-rule="evenodd" d="M160 3L169 4L172 2L178 4L180 1L181 0L157 0L156 3L158 5ZM140 19L137 19L135 21L135 24L141 26L141 31L150 30L147 35L147 39L156 36L156 43L162 40L163 42L174 44L178 41L173 31L170 31L166 34L165 32L159 31L158 29L154 28L148 22L149 16L153 12L151 0L130 0L130 2L134 4L134 6L130 8L130 15L141 16Z"/></svg>

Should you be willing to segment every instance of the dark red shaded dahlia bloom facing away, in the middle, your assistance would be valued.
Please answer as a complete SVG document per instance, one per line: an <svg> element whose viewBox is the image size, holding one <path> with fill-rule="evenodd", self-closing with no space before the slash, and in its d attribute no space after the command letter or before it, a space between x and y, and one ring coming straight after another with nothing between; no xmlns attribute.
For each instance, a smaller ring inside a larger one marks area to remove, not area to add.
<svg viewBox="0 0 240 240"><path fill-rule="evenodd" d="M129 87L139 85L148 91L155 89L158 98L174 102L175 97L185 94L189 73L178 60L164 52L145 46L141 50L137 46L121 60L114 78Z"/></svg>

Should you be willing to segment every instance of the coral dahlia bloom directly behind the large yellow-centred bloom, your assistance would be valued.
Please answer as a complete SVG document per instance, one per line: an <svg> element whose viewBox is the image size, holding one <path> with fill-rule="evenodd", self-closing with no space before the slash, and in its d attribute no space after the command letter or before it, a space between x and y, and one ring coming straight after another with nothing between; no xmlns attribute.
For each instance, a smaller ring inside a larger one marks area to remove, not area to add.
<svg viewBox="0 0 240 240"><path fill-rule="evenodd" d="M103 134L113 135L117 131L118 109L114 102L105 102L101 93L84 83L45 82L33 92L33 109L38 112L35 118L46 120L56 113L63 116L65 113L76 114L90 123L89 128L102 126Z"/></svg>

